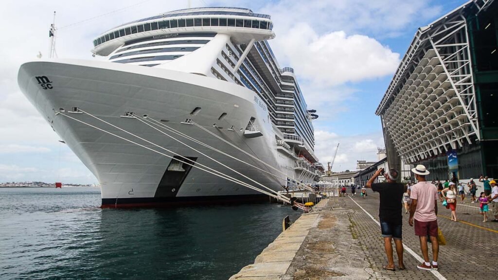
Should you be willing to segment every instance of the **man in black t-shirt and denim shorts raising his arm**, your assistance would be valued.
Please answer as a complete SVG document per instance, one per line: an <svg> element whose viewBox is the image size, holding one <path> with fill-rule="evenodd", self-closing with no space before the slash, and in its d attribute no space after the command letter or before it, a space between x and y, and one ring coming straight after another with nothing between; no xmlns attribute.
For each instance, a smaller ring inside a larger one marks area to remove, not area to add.
<svg viewBox="0 0 498 280"><path fill-rule="evenodd" d="M384 168L380 168L373 174L373 177L367 182L367 187L372 188L380 195L380 205L378 209L378 217L380 220L380 231L384 238L384 248L387 255L387 265L382 266L385 270L394 271L394 260L392 258L392 243L396 245L396 254L398 255L398 268L404 270L403 264L403 243L401 239L402 230L402 214L401 200L403 198L404 186L397 183L399 172L396 169L389 169L385 173L386 183L373 183L375 179L383 173Z"/></svg>

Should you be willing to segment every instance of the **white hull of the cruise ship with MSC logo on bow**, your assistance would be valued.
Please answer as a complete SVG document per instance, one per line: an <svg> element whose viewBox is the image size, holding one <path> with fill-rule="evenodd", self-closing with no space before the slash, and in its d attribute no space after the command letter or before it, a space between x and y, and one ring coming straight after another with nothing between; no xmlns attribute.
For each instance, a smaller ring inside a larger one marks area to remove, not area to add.
<svg viewBox="0 0 498 280"><path fill-rule="evenodd" d="M48 81L43 80L43 77ZM120 116L125 112L133 112L138 116L146 114L151 119L167 120L165 124L171 128L271 171L200 128L182 124L186 119L192 119L272 166L293 164L292 159L283 158L277 151L268 112L257 102L254 92L233 83L165 69L82 60L25 63L20 67L18 83L22 92L57 134L95 174L102 186L103 205L194 201L222 197L230 199L227 196L247 198L259 193L196 168L191 168L176 187L174 182L170 182L169 186L160 187L170 158L63 115L56 115L60 108L66 111L65 114L78 120L160 150L86 114L67 113L71 108L78 107L162 147L183 156L194 157L195 164L208 165L251 185L254 183L138 120ZM202 108L201 111L196 116L190 116L196 107ZM219 121L223 113L227 116ZM261 137L243 136L251 117L255 118L260 126ZM228 130L232 126L234 130ZM278 191L286 185L285 179L276 178L192 141L178 136L175 138L273 190ZM282 177L282 174L272 172ZM294 175L293 170L291 173Z"/></svg>

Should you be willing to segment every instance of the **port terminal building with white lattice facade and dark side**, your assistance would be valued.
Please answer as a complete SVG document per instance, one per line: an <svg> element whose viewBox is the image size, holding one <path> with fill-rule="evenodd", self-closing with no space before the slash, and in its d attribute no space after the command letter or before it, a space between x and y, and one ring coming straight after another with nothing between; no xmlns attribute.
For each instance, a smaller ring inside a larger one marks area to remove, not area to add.
<svg viewBox="0 0 498 280"><path fill-rule="evenodd" d="M418 28L377 107L389 166L498 177L497 106L498 2L470 0Z"/></svg>

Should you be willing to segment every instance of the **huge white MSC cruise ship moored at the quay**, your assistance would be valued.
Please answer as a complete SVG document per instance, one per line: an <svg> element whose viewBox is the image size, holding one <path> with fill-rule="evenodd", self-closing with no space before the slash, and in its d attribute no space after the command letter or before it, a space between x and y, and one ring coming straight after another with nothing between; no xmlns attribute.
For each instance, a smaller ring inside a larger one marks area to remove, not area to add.
<svg viewBox="0 0 498 280"><path fill-rule="evenodd" d="M272 28L247 8L165 12L98 36L107 60L27 62L18 84L95 174L103 207L261 199L323 171L318 115Z"/></svg>

